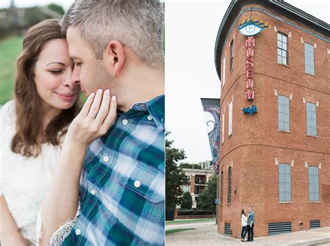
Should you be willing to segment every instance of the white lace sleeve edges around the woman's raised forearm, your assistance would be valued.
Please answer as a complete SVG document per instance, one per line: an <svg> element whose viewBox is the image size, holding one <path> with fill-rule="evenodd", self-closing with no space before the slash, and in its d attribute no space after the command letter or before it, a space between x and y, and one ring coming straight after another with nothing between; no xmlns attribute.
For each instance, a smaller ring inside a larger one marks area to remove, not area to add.
<svg viewBox="0 0 330 246"><path fill-rule="evenodd" d="M71 218L67 222L64 222L61 227L59 227L52 235L52 237L49 240L49 245L51 246L60 246L65 238L69 236L70 232L72 231L72 228L74 227L74 224L76 224L79 215L81 213L81 206L80 202L78 204L78 209L77 209L77 214L74 218ZM38 219L37 219L37 227L36 227L36 232L37 232L37 246L39 246L39 239L42 238L42 218L41 218L41 213L39 211L38 213Z"/></svg>

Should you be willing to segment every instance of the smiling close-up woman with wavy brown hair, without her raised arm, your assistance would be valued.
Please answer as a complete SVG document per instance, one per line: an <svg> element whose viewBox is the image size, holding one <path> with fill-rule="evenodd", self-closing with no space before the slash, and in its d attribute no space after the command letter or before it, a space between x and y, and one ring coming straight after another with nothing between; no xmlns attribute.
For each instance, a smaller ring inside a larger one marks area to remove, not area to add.
<svg viewBox="0 0 330 246"><path fill-rule="evenodd" d="M0 244L36 244L36 217L80 88L56 19L27 31L17 59L15 99L0 111Z"/></svg>

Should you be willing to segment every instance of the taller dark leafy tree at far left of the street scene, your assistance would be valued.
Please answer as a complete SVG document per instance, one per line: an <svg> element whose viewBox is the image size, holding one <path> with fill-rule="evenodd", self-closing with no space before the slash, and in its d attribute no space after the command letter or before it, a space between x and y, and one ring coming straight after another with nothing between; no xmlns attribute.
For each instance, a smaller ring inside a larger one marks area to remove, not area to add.
<svg viewBox="0 0 330 246"><path fill-rule="evenodd" d="M166 147L166 211L173 211L176 205L182 200L183 191L180 188L187 183L182 168L178 167L178 161L186 158L183 149L173 147L174 140L169 140L168 135L171 132L166 131L165 147Z"/></svg>

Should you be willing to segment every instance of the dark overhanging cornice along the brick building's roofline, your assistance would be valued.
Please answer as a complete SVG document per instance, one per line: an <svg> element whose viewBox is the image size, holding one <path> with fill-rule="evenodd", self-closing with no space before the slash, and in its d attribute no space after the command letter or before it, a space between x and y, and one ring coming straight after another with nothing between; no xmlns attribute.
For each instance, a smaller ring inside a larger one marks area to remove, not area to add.
<svg viewBox="0 0 330 246"><path fill-rule="evenodd" d="M298 22L300 24L304 24L309 28L312 28L314 31L321 33L322 35L330 36L330 25L326 22L323 22L313 15L309 15L299 8L296 8L285 1L265 1L265 0L233 0L231 1L228 9L226 10L225 15L223 16L222 22L219 27L219 31L217 34L217 40L214 49L214 63L216 65L217 74L219 79L221 78L221 56L223 52L223 47L226 44L228 33L230 32L233 24L235 24L237 17L242 15L242 8L249 4L259 4L268 8L270 10L274 10L276 13L288 17L292 19L294 22ZM256 9L254 9L256 10ZM311 35L315 35L311 33L311 31L305 30L307 33ZM320 38L320 35L315 35L315 37ZM329 38L322 38L326 42L330 42Z"/></svg>

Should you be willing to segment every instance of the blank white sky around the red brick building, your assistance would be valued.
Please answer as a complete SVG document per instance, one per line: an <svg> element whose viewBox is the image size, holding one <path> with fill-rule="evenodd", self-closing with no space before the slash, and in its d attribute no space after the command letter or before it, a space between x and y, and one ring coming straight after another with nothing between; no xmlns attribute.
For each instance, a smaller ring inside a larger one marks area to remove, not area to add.
<svg viewBox="0 0 330 246"><path fill-rule="evenodd" d="M329 23L329 1L287 1ZM166 1L166 129L185 162L212 160L201 97L219 98L214 44L230 1Z"/></svg>

